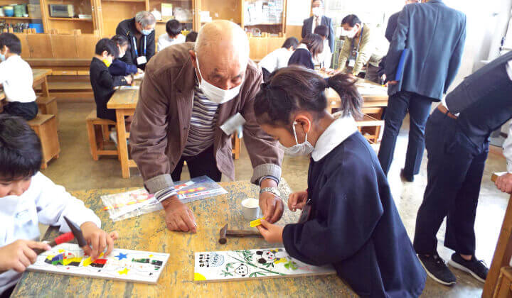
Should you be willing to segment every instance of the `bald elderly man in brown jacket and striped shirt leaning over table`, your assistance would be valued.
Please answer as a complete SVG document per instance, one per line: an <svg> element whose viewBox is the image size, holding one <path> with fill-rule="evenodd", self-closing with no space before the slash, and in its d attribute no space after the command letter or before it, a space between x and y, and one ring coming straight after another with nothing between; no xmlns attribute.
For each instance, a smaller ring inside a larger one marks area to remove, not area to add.
<svg viewBox="0 0 512 298"><path fill-rule="evenodd" d="M148 63L129 141L144 185L164 206L171 231L196 232L192 211L174 189L183 162L191 177L220 181L223 173L234 179L231 138L220 126L238 113L246 121L244 140L254 167L251 181L261 187L260 207L269 221L282 216L276 188L282 151L257 125L252 106L261 82L247 35L230 21L206 24L195 46L171 45Z"/></svg>

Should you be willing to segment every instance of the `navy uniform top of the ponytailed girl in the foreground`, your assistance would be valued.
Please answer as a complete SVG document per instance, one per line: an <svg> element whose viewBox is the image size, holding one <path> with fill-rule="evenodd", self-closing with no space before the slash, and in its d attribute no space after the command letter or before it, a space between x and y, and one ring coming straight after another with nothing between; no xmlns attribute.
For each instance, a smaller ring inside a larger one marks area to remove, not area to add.
<svg viewBox="0 0 512 298"><path fill-rule="evenodd" d="M333 264L362 297L420 296L425 270L368 141L356 131L321 159L313 158L311 214L304 223L284 227L287 253L311 265Z"/></svg>

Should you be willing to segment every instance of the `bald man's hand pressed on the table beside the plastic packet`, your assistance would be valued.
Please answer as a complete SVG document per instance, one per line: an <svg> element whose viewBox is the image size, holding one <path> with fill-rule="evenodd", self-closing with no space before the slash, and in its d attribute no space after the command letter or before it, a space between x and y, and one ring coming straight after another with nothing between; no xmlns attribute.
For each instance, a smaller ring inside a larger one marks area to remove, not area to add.
<svg viewBox="0 0 512 298"><path fill-rule="evenodd" d="M196 217L191 209L181 203L178 197L170 197L161 202L166 212L166 226L170 231L197 232Z"/></svg>

